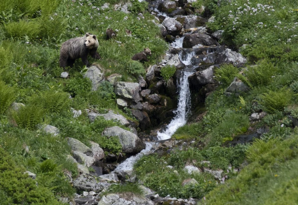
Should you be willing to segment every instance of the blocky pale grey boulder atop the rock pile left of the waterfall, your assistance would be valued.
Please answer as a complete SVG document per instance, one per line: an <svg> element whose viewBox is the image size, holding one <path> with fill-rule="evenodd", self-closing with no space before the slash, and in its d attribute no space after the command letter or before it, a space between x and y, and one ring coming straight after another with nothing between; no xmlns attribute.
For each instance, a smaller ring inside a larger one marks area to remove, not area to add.
<svg viewBox="0 0 298 205"><path fill-rule="evenodd" d="M115 85L116 95L134 100L136 103L140 101L139 90L139 83L117 82Z"/></svg>

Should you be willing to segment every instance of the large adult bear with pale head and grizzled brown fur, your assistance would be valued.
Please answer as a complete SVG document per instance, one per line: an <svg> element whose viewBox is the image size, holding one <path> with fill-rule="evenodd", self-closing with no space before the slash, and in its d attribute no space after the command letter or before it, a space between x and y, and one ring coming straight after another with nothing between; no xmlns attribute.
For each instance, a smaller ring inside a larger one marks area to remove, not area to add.
<svg viewBox="0 0 298 205"><path fill-rule="evenodd" d="M60 49L60 67L72 67L77 58L81 58L83 63L89 66L87 59L88 54L90 54L92 58L100 59L97 48L98 41L96 35L90 33L86 33L83 37L71 38L65 41Z"/></svg>

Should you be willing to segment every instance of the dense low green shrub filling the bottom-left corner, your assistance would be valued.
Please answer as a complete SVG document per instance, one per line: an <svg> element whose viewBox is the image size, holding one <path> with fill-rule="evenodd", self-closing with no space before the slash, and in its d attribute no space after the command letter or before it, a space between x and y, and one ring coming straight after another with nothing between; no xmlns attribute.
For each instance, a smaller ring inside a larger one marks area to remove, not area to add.
<svg viewBox="0 0 298 205"><path fill-rule="evenodd" d="M25 169L18 166L3 148L0 148L0 153L2 204L61 204L48 188L41 185L37 187L36 182L24 174Z"/></svg>

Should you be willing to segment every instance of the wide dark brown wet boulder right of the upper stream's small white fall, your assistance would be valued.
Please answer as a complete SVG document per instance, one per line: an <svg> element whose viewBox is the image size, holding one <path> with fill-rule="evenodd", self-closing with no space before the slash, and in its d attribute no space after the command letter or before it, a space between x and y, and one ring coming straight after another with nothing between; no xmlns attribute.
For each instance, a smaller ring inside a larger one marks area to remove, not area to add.
<svg viewBox="0 0 298 205"><path fill-rule="evenodd" d="M204 33L192 33L187 35L183 39L183 48L192 48L197 44L202 44L204 46L218 45L218 42L211 38L209 35Z"/></svg>

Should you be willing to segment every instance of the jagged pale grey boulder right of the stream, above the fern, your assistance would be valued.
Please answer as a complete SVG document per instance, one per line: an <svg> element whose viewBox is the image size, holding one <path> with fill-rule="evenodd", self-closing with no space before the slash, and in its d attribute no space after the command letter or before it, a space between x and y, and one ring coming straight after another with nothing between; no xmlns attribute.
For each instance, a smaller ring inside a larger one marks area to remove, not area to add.
<svg viewBox="0 0 298 205"><path fill-rule="evenodd" d="M218 57L215 61L216 64L221 63L233 63L233 65L237 65L239 63L245 63L246 58L244 58L240 53L236 51L232 51L231 49L226 49L225 51L218 54Z"/></svg>

